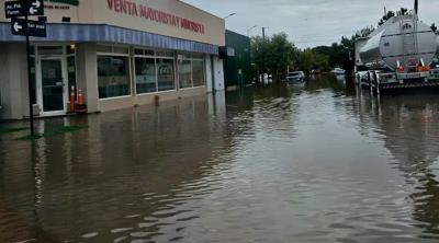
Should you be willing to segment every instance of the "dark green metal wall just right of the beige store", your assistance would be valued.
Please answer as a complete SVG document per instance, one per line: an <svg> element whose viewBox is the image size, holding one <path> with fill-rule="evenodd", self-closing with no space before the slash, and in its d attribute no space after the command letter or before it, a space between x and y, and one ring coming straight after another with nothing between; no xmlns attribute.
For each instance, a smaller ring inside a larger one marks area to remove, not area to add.
<svg viewBox="0 0 439 243"><path fill-rule="evenodd" d="M226 31L226 46L235 49L235 57L227 57L224 60L225 85L239 84L239 67L243 70L243 85L250 84L252 80L250 38Z"/></svg>

